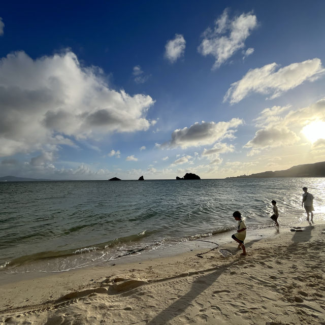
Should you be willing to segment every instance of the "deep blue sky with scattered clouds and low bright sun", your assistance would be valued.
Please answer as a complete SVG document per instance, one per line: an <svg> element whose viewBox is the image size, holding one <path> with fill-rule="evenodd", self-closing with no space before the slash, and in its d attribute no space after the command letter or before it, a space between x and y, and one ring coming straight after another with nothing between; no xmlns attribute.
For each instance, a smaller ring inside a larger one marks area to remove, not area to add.
<svg viewBox="0 0 325 325"><path fill-rule="evenodd" d="M325 160L325 2L0 8L0 177L224 178Z"/></svg>

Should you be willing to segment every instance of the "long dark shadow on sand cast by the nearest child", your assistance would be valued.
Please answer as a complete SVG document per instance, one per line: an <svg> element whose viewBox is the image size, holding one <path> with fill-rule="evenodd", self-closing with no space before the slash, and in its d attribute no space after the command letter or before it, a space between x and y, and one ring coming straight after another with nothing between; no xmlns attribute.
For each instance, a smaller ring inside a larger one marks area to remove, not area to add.
<svg viewBox="0 0 325 325"><path fill-rule="evenodd" d="M250 247L253 243L259 242L261 239L252 240L245 244L246 247ZM233 261L226 267L223 267L222 269L216 269L215 272L209 273L207 275L204 275L202 277L199 277L198 279L193 281L191 289L186 293L184 296L180 297L177 301L175 301L173 304L171 304L168 308L161 311L157 316L155 316L153 319L151 319L147 325L165 325L173 318L177 317L178 315L181 315L185 309L188 307L188 305L193 301L196 297L198 297L201 293L203 293L204 290L206 290L209 286L211 286L218 277L227 270L228 268L232 267L233 265L236 265L240 262L240 258L236 261ZM245 258L245 257L243 257Z"/></svg>

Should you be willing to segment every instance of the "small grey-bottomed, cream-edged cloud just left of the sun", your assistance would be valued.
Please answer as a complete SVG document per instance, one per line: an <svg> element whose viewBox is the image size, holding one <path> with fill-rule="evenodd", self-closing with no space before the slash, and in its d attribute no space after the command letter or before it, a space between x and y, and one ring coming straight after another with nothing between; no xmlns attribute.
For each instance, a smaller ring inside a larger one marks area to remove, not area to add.
<svg viewBox="0 0 325 325"><path fill-rule="evenodd" d="M267 148L279 147L283 145L292 145L299 141L300 138L287 127L269 127L259 129L255 133L255 137L248 141L245 148Z"/></svg>

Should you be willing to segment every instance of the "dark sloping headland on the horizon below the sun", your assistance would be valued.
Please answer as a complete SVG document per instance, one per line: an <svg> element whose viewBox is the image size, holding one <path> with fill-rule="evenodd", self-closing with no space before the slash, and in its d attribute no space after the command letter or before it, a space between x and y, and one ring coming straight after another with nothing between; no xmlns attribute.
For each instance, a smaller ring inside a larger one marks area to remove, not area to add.
<svg viewBox="0 0 325 325"><path fill-rule="evenodd" d="M325 177L325 161L315 164L305 164L282 171L263 172L251 175L241 175L227 178L270 178L270 177Z"/></svg>

